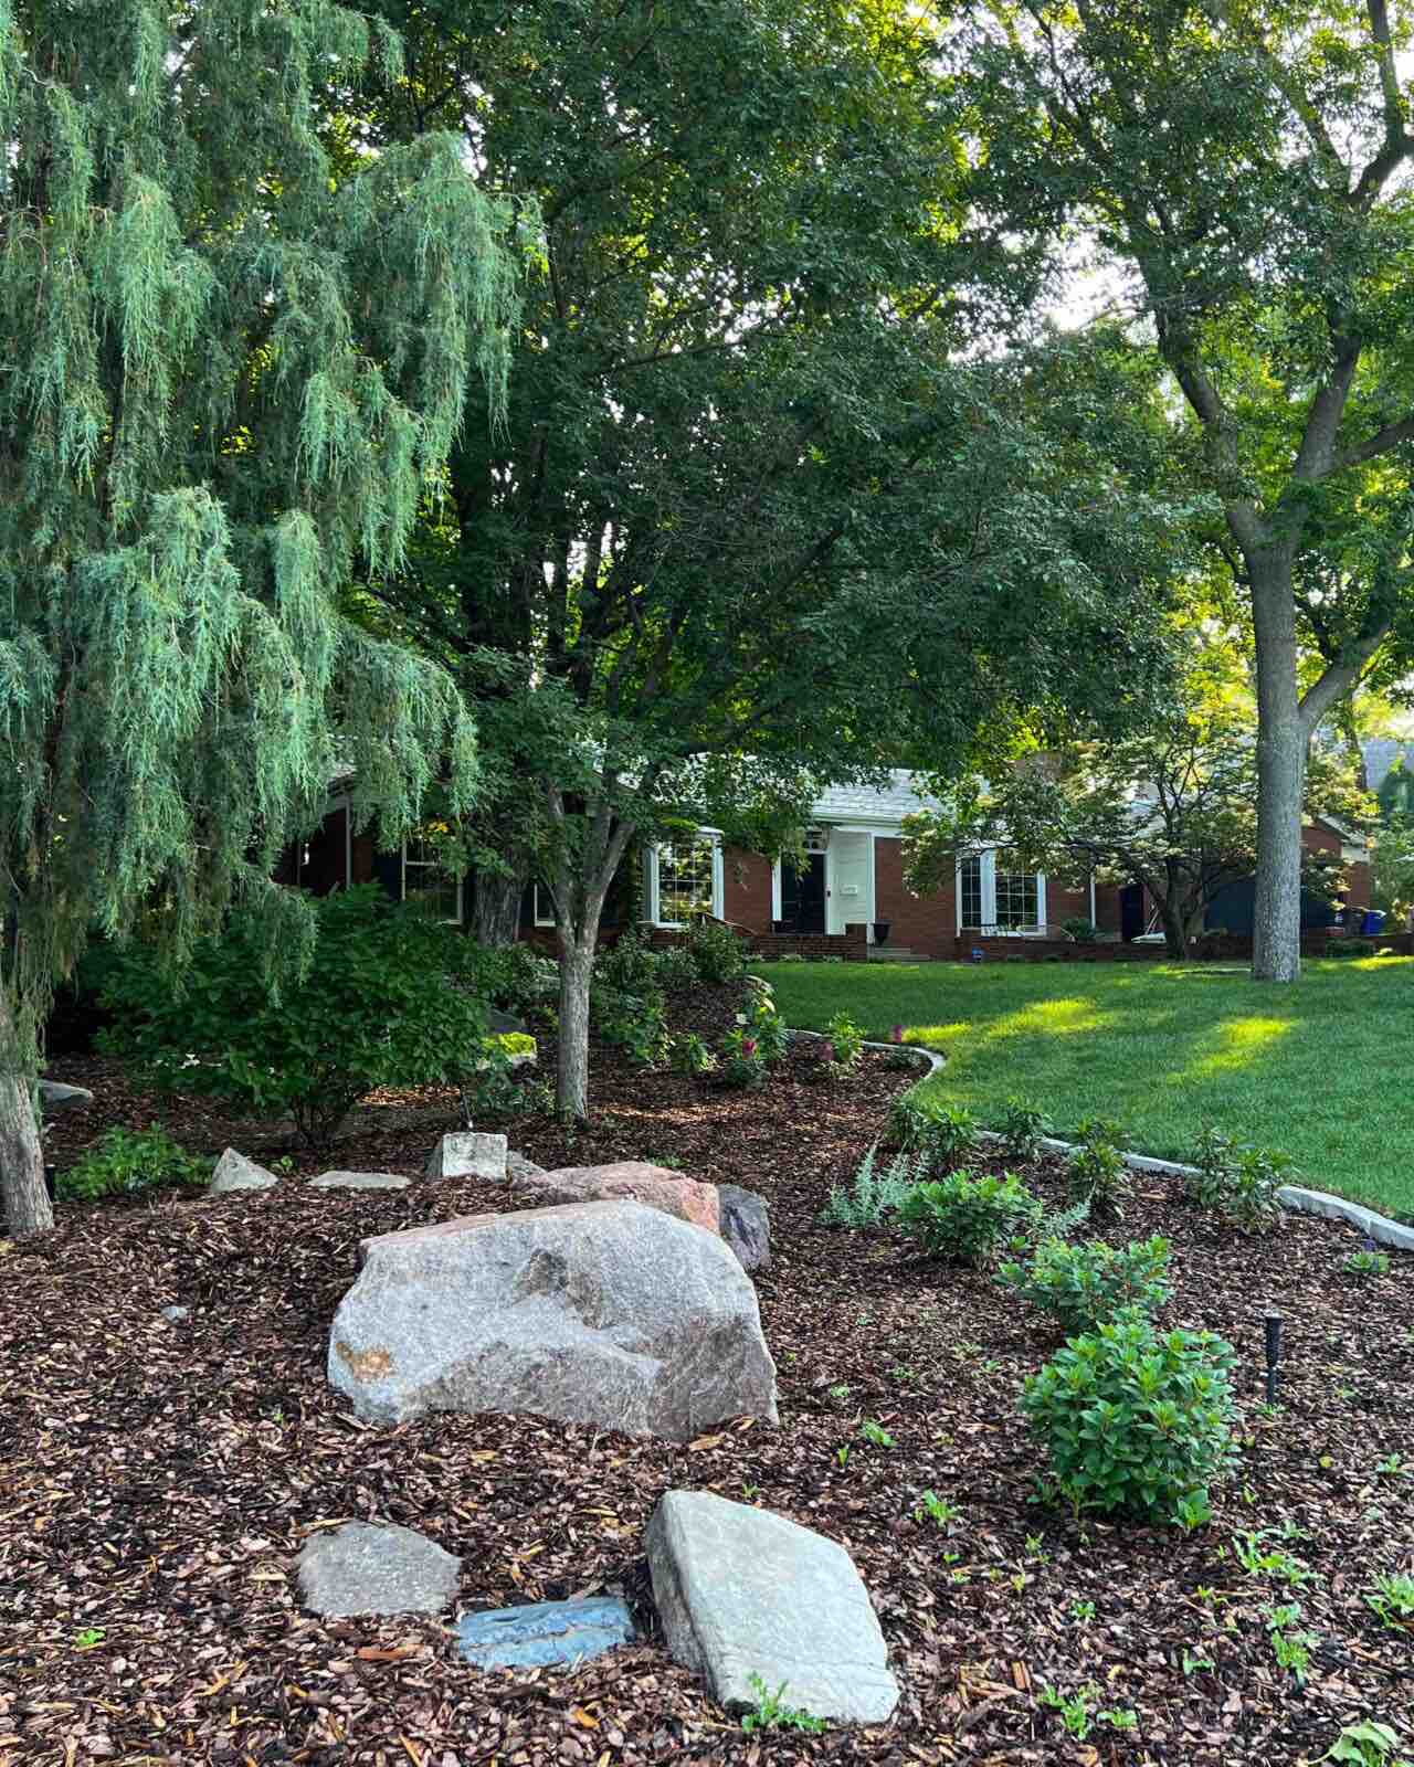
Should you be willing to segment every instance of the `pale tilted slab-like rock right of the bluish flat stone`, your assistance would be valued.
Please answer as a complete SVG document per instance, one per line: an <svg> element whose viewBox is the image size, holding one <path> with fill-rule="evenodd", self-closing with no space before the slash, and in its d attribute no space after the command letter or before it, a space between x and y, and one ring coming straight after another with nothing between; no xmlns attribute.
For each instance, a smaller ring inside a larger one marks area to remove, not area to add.
<svg viewBox="0 0 1414 1767"><path fill-rule="evenodd" d="M666 1491L645 1546L668 1654L728 1712L756 1705L753 1677L817 1718L893 1712L884 1634L843 1546L712 1491Z"/></svg>

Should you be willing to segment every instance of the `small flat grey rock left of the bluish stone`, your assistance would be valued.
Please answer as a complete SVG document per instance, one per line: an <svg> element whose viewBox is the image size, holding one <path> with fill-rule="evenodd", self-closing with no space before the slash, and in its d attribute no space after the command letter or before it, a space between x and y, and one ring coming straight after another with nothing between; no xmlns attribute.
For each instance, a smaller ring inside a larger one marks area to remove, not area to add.
<svg viewBox="0 0 1414 1767"><path fill-rule="evenodd" d="M461 1583L458 1557L391 1521L345 1521L311 1534L295 1571L306 1608L332 1620L440 1613Z"/></svg>

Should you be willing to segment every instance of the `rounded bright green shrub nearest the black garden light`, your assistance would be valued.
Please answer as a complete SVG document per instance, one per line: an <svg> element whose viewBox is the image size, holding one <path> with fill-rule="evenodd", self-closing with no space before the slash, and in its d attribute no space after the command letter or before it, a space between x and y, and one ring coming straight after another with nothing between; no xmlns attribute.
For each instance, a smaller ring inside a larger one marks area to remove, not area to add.
<svg viewBox="0 0 1414 1767"><path fill-rule="evenodd" d="M1234 1361L1213 1332L1159 1336L1138 1309L1073 1338L1022 1387L1048 1488L1076 1514L1207 1520L1207 1488L1235 1461Z"/></svg>

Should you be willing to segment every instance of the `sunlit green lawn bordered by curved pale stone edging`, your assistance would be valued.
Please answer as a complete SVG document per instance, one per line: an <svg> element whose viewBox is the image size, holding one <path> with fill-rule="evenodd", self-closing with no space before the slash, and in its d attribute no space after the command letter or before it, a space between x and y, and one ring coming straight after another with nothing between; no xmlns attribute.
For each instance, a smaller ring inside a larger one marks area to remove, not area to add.
<svg viewBox="0 0 1414 1767"><path fill-rule="evenodd" d="M1310 963L1294 988L1195 963L769 963L788 1025L848 1012L947 1055L930 1085L986 1122L1009 1094L1064 1134L1114 1117L1190 1154L1202 1122L1290 1154L1306 1180L1414 1217L1414 959Z"/></svg>

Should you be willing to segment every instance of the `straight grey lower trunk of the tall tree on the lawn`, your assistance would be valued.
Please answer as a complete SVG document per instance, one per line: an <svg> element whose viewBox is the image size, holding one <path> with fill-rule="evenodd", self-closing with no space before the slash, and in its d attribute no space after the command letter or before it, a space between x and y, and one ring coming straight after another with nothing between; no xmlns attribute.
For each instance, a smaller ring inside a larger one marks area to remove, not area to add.
<svg viewBox="0 0 1414 1767"><path fill-rule="evenodd" d="M1301 797L1306 728L1296 680L1296 601L1287 548L1253 553L1257 640L1257 898L1251 974L1260 982L1301 975Z"/></svg>

